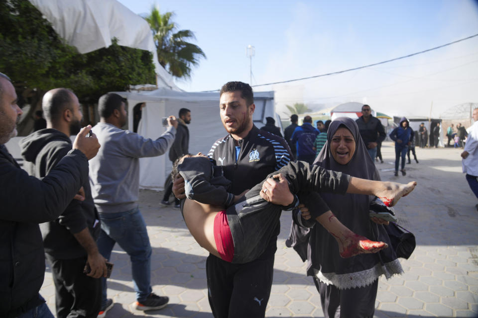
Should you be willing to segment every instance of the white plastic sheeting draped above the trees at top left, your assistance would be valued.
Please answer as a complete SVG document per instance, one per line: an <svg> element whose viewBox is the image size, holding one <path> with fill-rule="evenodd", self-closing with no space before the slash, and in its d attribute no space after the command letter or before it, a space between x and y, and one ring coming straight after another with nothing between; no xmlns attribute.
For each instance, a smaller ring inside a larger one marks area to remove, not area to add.
<svg viewBox="0 0 478 318"><path fill-rule="evenodd" d="M150 51L158 87L181 90L159 65L148 22L116 0L30 0L66 42L84 54L118 44Z"/></svg>

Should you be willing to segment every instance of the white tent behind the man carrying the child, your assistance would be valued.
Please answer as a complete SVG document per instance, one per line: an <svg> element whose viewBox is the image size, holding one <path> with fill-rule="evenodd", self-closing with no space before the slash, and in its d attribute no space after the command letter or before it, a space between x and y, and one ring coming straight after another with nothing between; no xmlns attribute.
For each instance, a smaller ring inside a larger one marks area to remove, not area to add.
<svg viewBox="0 0 478 318"><path fill-rule="evenodd" d="M128 101L128 126L133 127L132 108L138 103L146 103L142 110L138 134L156 139L164 131L161 118L177 116L180 108L191 110L192 121L188 125L190 140L189 152L207 154L213 143L227 135L219 117L219 92L178 92L170 89L156 89L141 92L117 92ZM260 128L265 117L273 117L280 122L275 113L274 92L254 92L254 124ZM171 171L171 161L166 155L140 159L139 184L142 188L161 189Z"/></svg>

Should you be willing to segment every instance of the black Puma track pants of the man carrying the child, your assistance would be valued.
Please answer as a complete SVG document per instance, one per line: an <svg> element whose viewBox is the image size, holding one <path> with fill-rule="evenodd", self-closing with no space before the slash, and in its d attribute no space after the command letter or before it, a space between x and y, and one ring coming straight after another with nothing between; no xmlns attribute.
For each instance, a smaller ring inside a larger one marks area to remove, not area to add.
<svg viewBox="0 0 478 318"><path fill-rule="evenodd" d="M274 255L233 264L214 255L206 260L209 305L215 318L261 318L269 301Z"/></svg>

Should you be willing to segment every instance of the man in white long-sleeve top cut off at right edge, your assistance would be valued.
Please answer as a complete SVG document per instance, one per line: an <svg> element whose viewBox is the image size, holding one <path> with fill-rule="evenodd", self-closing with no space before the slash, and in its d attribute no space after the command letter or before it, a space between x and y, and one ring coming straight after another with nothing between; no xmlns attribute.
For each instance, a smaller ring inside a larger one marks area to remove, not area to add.
<svg viewBox="0 0 478 318"><path fill-rule="evenodd" d="M475 123L468 132L467 143L462 153L463 172L466 173L468 184L478 198L478 108L473 110ZM476 205L478 210L478 204Z"/></svg>

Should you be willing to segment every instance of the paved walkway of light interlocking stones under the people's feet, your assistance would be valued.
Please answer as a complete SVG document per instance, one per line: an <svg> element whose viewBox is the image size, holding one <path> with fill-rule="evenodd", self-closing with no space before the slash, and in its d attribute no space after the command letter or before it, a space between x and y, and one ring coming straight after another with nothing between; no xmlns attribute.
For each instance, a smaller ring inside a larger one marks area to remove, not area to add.
<svg viewBox="0 0 478 318"><path fill-rule="evenodd" d="M384 163L377 163L383 180L418 181L418 187L395 207L399 223L412 231L417 248L402 260L405 274L380 279L375 316L478 317L478 211L477 199L461 173L459 149L419 149L418 160L407 164L406 176L393 176L394 149L382 147ZM115 305L109 318L212 317L207 299L207 253L189 235L180 212L161 208L162 195L140 192L140 209L153 247L152 284L170 304L147 313L134 311L134 292L127 255L117 246L108 283ZM281 217L274 283L266 317L324 317L320 298L305 264L284 241L290 213ZM41 294L54 310L54 286L47 268Z"/></svg>

